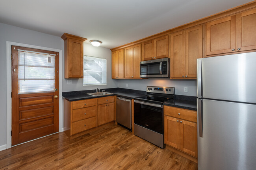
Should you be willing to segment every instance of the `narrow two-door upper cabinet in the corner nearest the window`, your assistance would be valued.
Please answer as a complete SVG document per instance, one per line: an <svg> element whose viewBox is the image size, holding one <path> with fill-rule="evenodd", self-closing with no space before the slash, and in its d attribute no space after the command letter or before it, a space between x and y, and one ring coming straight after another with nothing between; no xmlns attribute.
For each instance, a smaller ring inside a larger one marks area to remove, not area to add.
<svg viewBox="0 0 256 170"><path fill-rule="evenodd" d="M112 52L112 78L124 78L124 49Z"/></svg>

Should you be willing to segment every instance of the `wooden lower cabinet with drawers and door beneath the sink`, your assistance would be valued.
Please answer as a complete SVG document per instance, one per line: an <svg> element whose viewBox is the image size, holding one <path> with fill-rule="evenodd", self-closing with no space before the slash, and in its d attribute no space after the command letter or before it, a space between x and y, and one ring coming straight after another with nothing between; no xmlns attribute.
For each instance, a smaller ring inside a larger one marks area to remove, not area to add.
<svg viewBox="0 0 256 170"><path fill-rule="evenodd" d="M115 120L115 96L64 100L64 131L71 138Z"/></svg>

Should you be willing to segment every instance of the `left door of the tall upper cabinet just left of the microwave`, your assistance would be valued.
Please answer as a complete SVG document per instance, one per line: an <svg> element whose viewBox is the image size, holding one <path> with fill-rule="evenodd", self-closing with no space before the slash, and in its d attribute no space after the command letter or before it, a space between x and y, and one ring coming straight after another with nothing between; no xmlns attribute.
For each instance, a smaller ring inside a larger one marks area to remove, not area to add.
<svg viewBox="0 0 256 170"><path fill-rule="evenodd" d="M133 72L132 47L124 49L124 78L132 78Z"/></svg>

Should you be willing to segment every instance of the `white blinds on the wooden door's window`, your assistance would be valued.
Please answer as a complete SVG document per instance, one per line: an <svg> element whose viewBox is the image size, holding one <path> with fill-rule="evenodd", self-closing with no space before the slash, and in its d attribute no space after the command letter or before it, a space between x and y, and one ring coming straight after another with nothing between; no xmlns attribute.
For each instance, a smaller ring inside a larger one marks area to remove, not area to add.
<svg viewBox="0 0 256 170"><path fill-rule="evenodd" d="M18 93L54 92L55 55L18 50Z"/></svg>

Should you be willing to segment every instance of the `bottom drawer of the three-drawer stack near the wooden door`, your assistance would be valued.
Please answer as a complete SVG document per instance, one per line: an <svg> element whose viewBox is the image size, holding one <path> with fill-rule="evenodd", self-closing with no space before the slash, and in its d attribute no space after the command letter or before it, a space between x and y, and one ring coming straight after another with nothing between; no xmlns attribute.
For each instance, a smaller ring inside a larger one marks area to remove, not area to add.
<svg viewBox="0 0 256 170"><path fill-rule="evenodd" d="M80 120L72 123L72 134L96 127L96 117Z"/></svg>

